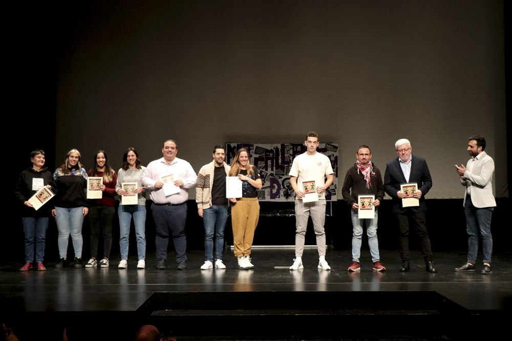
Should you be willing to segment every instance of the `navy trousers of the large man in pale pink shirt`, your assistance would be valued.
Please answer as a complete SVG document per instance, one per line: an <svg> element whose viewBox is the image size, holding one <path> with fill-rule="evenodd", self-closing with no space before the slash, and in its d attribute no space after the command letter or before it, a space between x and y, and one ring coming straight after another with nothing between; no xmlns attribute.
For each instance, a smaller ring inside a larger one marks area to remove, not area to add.
<svg viewBox="0 0 512 341"><path fill-rule="evenodd" d="M176 249L176 261L186 261L187 238L185 236L185 221L187 219L187 203L179 205L151 204L151 212L155 219L155 244L157 259L167 259L169 235L173 237Z"/></svg>

